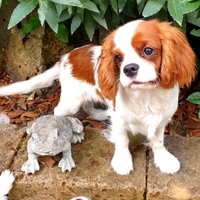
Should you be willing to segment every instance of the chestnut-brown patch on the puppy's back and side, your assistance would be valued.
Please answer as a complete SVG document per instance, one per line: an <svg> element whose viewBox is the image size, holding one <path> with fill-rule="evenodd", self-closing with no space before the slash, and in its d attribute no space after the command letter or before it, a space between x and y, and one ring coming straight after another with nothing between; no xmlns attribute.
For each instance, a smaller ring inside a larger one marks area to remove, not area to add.
<svg viewBox="0 0 200 200"><path fill-rule="evenodd" d="M95 45L88 45L73 50L69 54L69 63L72 65L72 76L78 80L86 81L89 84L95 85L94 79L94 63L92 62L93 51L91 47Z"/></svg>

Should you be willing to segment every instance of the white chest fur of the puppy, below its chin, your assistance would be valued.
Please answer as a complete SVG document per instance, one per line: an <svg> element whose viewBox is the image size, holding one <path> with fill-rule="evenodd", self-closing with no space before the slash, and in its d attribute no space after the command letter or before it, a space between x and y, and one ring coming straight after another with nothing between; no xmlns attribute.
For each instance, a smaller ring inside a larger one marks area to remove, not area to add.
<svg viewBox="0 0 200 200"><path fill-rule="evenodd" d="M133 134L141 133L148 137L163 124L167 124L177 109L178 86L163 90L161 87L152 90L119 89L116 97L118 120Z"/></svg>

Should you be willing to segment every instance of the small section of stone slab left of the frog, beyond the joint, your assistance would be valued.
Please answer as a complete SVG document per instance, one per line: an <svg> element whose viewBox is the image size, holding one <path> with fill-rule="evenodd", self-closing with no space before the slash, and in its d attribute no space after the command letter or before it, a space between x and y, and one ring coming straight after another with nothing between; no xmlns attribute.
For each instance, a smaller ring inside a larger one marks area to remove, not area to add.
<svg viewBox="0 0 200 200"><path fill-rule="evenodd" d="M25 128L18 130L16 125L0 125L0 174L10 167L24 134Z"/></svg>

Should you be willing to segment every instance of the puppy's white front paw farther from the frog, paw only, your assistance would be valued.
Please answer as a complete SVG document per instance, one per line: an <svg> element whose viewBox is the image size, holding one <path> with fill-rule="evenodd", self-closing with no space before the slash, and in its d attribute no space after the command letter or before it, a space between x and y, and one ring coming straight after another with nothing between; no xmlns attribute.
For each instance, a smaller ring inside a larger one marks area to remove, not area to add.
<svg viewBox="0 0 200 200"><path fill-rule="evenodd" d="M165 148L154 152L154 163L156 167L167 174L173 174L180 169L180 162L178 159Z"/></svg>

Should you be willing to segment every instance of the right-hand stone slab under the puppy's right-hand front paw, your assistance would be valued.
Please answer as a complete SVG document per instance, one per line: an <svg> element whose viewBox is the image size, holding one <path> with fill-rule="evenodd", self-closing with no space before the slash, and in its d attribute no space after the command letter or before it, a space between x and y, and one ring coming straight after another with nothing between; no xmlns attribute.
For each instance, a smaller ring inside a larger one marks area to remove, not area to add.
<svg viewBox="0 0 200 200"><path fill-rule="evenodd" d="M150 152L147 200L200 200L200 138L167 136L165 147L178 158L181 168L173 175L162 173Z"/></svg>

